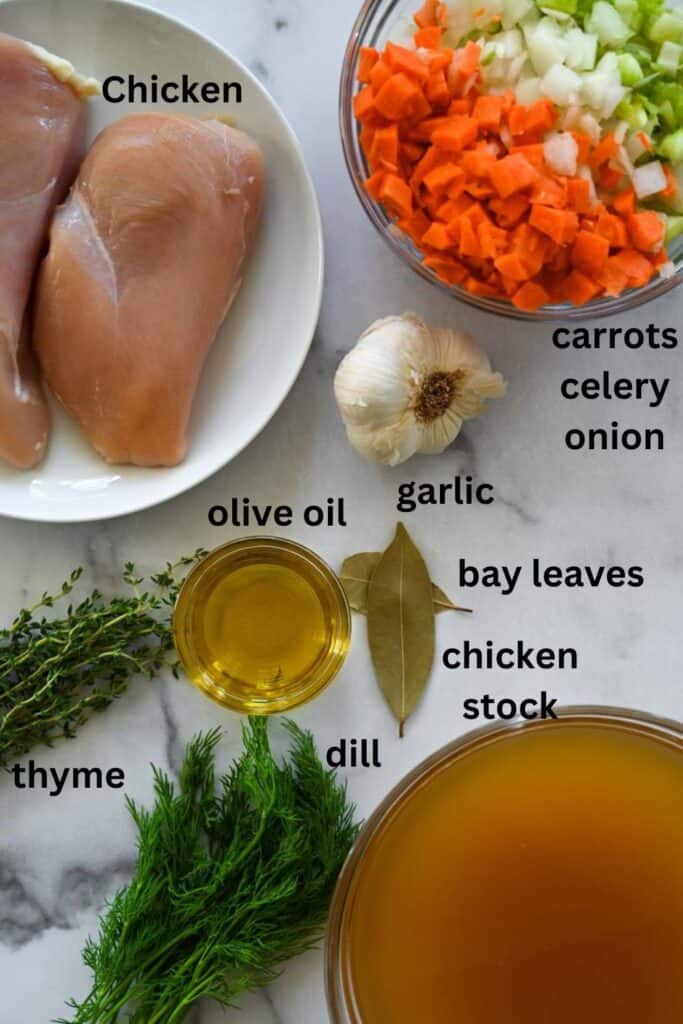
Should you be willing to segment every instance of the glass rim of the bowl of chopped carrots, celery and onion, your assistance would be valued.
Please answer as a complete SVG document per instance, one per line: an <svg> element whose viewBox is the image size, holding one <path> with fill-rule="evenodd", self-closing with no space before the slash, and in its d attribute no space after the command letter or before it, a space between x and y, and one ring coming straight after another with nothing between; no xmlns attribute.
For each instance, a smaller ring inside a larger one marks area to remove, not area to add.
<svg viewBox="0 0 683 1024"><path fill-rule="evenodd" d="M676 272L670 278L653 278L651 282L642 288L631 289L616 298L602 296L598 299L592 299L583 306L572 306L569 304L550 305L544 306L536 312L528 312L518 309L512 302L506 302L503 299L493 299L487 296L474 296L458 285L447 285L426 267L416 255L417 250L410 243L409 239L402 236L402 232L399 231L393 221L386 215L380 204L376 203L364 187L367 169L358 148L358 129L355 117L353 116L353 97L356 86L355 72L360 48L367 45L366 38L368 31L373 19L380 14L383 7L386 7L386 10L382 13L379 23L380 29L386 25L389 16L401 2L402 0L365 0L353 24L351 35L344 51L344 62L339 86L339 126L346 169L367 216L391 251L398 255L402 262L408 264L412 270L452 298L459 299L467 305L473 306L475 309L483 309L497 316L525 321L526 323L550 324L561 319L578 323L589 319L600 319L604 316L615 316L620 313L631 312L639 306L668 294L674 288L683 284L683 253L681 253L676 259Z"/></svg>

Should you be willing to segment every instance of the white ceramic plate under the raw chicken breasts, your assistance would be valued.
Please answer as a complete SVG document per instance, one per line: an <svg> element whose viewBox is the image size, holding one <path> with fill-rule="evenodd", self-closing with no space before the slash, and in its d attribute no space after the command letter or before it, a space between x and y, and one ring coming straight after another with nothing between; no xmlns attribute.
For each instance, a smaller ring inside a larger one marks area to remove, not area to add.
<svg viewBox="0 0 683 1024"><path fill-rule="evenodd" d="M238 60L180 23L119 0L5 0L0 32L39 43L100 80L131 73L146 80L157 72L160 81L175 81L185 72L200 82L240 81L243 102L227 113L265 155L267 197L258 241L205 366L184 463L155 470L109 466L55 408L45 462L28 473L0 466L0 515L52 522L124 515L173 498L224 466L263 429L294 384L323 293L315 193L297 139L262 86ZM96 97L89 138L133 110L154 109ZM219 108L185 110L203 117Z"/></svg>

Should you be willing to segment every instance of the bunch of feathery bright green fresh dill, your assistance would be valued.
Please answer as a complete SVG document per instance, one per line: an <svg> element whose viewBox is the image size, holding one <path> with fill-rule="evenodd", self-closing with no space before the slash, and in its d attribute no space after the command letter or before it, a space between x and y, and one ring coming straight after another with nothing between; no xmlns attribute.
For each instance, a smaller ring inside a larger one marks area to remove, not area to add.
<svg viewBox="0 0 683 1024"><path fill-rule="evenodd" d="M284 764L251 719L218 782L215 730L188 744L177 790L155 769L154 808L128 801L135 876L83 951L89 995L56 1024L179 1024L200 998L233 1006L319 939L358 826L310 734L287 728Z"/></svg>

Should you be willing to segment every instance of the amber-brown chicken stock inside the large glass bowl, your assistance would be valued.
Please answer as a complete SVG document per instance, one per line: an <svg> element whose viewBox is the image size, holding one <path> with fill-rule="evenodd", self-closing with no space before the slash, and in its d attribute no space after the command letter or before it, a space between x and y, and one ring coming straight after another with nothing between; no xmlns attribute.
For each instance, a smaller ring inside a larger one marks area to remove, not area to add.
<svg viewBox="0 0 683 1024"><path fill-rule="evenodd" d="M343 933L361 1024L681 1024L683 746L552 723L435 771Z"/></svg>

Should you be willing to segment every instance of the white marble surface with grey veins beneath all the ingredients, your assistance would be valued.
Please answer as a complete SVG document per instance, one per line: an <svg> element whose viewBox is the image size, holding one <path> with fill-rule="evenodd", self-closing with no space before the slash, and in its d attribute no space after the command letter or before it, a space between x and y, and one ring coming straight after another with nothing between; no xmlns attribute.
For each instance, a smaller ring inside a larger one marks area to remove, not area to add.
<svg viewBox="0 0 683 1024"><path fill-rule="evenodd" d="M352 653L336 684L296 718L322 749L340 736L382 739L382 770L351 771L349 785L366 814L404 772L465 731L462 700L489 691L526 695L549 689L563 702L610 703L683 719L680 682L680 601L683 594L683 479L680 451L683 374L673 353L564 353L550 330L479 314L413 276L384 249L359 209L343 166L336 123L342 53L357 0L157 0L241 57L290 117L315 179L328 246L326 299L315 343L292 394L263 434L236 462L190 494L144 514L101 525L50 527L0 520L0 614L10 617L30 595L58 582L75 565L106 588L129 558L153 569L198 545L238 536L208 525L207 510L230 497L285 502L297 508L331 495L347 501L346 529L297 527L288 536L315 547L333 565L353 551L385 546L397 518L396 485L445 481L471 472L497 487L489 509L424 509L404 520L434 574L455 591L457 560L528 565L644 566L640 591L535 591L512 597L476 591L471 620L440 616L438 645L466 636L498 643L575 646L577 673L434 672L419 713L399 743L379 695L356 621ZM303 287L303 283L302 283ZM612 326L680 323L679 293ZM400 471L364 463L348 447L331 383L340 355L375 317L413 308L434 322L471 329L510 382L509 397L469 425L450 453ZM276 343L276 339L273 339ZM610 369L625 376L671 377L658 411L626 403L559 400L563 377ZM664 455L572 455L563 443L569 423L612 417L663 426ZM0 510L1 511L1 510ZM238 531L239 532L239 531ZM454 596L460 596L456 593ZM151 794L150 761L177 768L197 730L222 724L227 758L239 721L211 706L188 684L168 680L134 686L117 708L52 753L46 766L100 764L125 769L127 793ZM120 794L18 793L0 787L0 990L2 1024L46 1024L63 1000L86 990L80 949L103 900L128 877L133 834ZM195 1024L234 1016L244 1024L323 1024L322 956L288 967L268 991L244 1001L240 1017L203 1006Z"/></svg>

